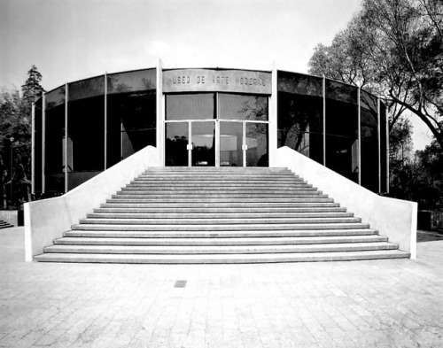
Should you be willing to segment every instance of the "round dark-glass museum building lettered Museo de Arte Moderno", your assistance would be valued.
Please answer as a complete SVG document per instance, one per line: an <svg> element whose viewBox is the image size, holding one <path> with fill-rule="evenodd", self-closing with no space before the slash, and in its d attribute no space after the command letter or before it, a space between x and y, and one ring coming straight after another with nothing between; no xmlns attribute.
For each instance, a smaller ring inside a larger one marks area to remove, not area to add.
<svg viewBox="0 0 443 348"><path fill-rule="evenodd" d="M164 166L273 166L288 146L376 193L388 187L380 98L330 79L159 66L66 83L33 105L33 192L57 196L146 147Z"/></svg>

